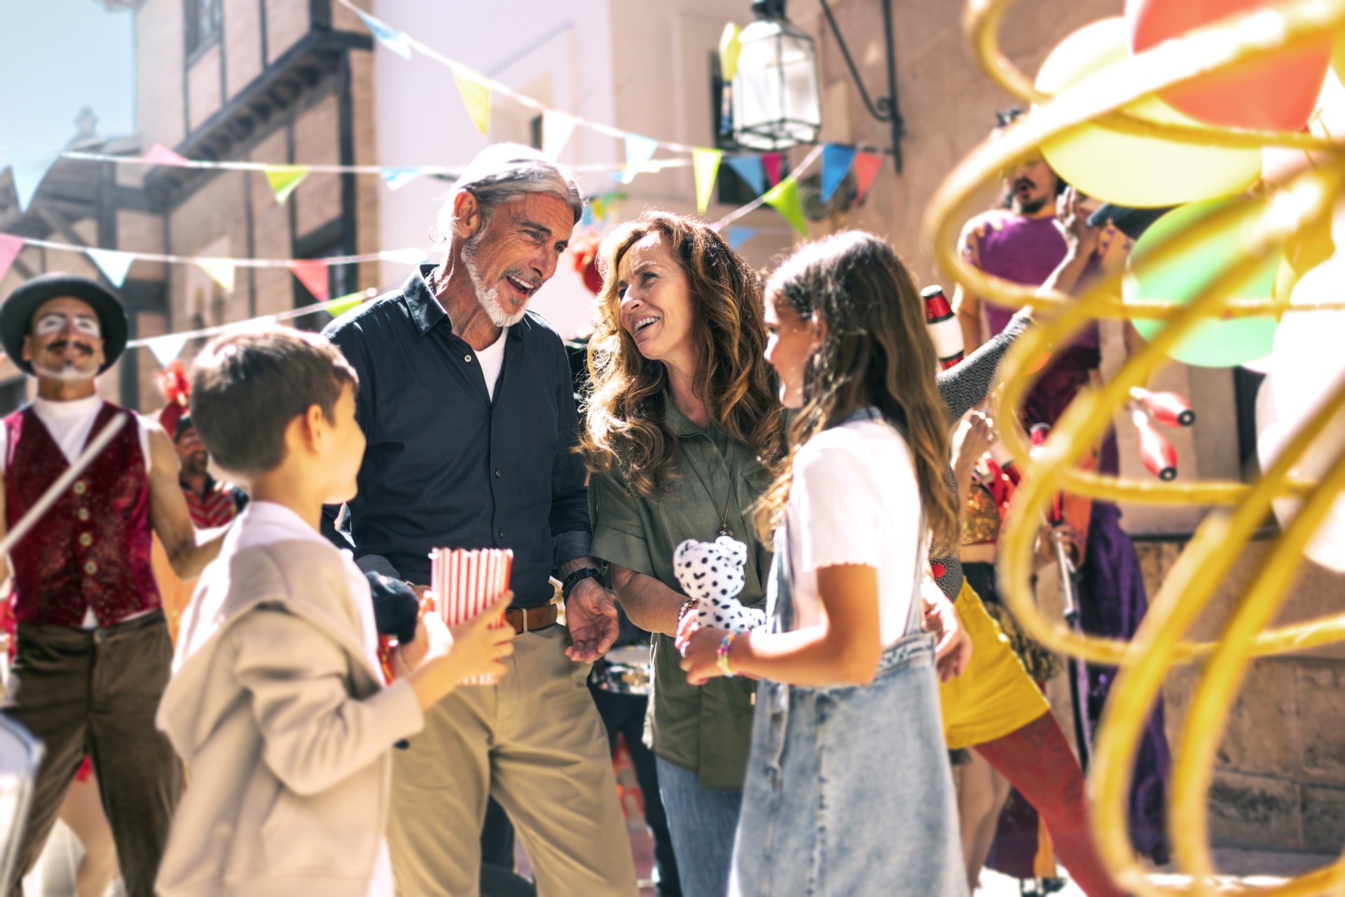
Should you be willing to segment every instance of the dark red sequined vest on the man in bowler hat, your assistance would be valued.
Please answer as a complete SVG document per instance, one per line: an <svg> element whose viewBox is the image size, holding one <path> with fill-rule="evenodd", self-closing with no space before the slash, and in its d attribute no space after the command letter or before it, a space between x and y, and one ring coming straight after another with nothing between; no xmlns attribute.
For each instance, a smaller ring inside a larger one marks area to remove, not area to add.
<svg viewBox="0 0 1345 897"><path fill-rule="evenodd" d="M149 562L149 476L132 412L104 402L89 441L130 420L9 551L19 623L79 627L93 608L106 627L161 605ZM15 526L70 468L32 407L4 420L5 523Z"/></svg>

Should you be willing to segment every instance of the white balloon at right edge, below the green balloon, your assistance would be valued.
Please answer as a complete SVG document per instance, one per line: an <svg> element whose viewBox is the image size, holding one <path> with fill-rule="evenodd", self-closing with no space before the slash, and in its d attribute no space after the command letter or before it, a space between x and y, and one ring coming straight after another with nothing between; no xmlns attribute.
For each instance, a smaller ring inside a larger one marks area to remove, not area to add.
<svg viewBox="0 0 1345 897"><path fill-rule="evenodd" d="M1334 256L1307 272L1294 286L1295 305L1345 299L1345 258ZM1294 433L1345 381L1345 312L1289 312L1275 331L1270 374L1256 397L1256 455L1267 469ZM1321 479L1345 448L1345 409L1328 424L1294 467L1294 475ZM1298 514L1298 499L1276 499L1280 526ZM1345 572L1345 495L1322 520L1305 554L1332 570Z"/></svg>

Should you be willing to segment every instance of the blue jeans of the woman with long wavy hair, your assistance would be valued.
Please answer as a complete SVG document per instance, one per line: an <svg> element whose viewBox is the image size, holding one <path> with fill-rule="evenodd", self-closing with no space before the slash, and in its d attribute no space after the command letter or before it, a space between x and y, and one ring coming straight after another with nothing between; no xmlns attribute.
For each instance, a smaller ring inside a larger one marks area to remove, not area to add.
<svg viewBox="0 0 1345 897"><path fill-rule="evenodd" d="M658 767L683 897L724 897L742 792L702 788L699 776L663 758Z"/></svg>

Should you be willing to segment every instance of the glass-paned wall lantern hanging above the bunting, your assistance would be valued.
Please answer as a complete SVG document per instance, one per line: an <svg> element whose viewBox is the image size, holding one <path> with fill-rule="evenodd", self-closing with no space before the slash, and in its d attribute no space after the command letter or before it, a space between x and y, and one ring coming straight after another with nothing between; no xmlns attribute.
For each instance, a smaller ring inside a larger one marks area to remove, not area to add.
<svg viewBox="0 0 1345 897"><path fill-rule="evenodd" d="M784 16L785 0L755 0L756 22L738 35L733 137L748 149L816 143L822 129L818 48Z"/></svg>

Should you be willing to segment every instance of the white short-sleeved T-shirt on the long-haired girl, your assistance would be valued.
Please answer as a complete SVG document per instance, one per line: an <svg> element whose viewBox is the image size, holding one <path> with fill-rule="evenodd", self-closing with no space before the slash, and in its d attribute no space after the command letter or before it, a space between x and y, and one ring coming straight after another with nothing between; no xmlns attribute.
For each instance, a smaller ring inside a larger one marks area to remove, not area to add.
<svg viewBox="0 0 1345 897"><path fill-rule="evenodd" d="M904 636L915 565L923 562L928 542L905 440L886 422L868 420L814 436L794 457L787 514L795 627L822 621L819 569L863 565L878 572L884 647Z"/></svg>

